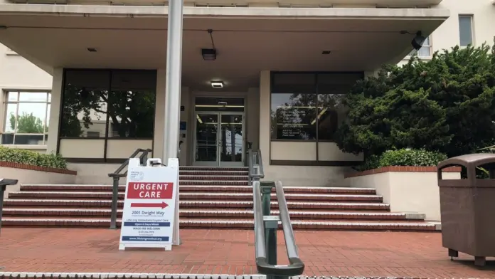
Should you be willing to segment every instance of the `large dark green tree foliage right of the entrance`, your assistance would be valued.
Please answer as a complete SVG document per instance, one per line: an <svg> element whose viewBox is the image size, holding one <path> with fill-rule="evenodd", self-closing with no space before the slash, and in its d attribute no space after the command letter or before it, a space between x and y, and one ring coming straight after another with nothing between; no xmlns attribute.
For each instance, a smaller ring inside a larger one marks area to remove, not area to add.
<svg viewBox="0 0 495 279"><path fill-rule="evenodd" d="M344 97L345 152L427 149L449 157L495 143L495 46L454 47L432 60L384 65Z"/></svg>

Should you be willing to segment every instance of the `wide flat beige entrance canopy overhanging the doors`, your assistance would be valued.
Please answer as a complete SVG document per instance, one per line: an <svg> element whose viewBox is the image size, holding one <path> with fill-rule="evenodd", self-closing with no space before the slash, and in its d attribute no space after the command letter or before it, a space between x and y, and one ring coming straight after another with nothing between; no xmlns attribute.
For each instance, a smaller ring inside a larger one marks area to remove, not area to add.
<svg viewBox="0 0 495 279"><path fill-rule="evenodd" d="M4 4L0 42L51 72L166 68L166 7ZM258 85L261 70L356 71L397 63L444 9L184 8L183 83L225 90ZM212 48L206 61L201 48ZM401 33L408 31L408 33ZM90 50L94 48L93 50ZM329 54L322 54L329 52Z"/></svg>

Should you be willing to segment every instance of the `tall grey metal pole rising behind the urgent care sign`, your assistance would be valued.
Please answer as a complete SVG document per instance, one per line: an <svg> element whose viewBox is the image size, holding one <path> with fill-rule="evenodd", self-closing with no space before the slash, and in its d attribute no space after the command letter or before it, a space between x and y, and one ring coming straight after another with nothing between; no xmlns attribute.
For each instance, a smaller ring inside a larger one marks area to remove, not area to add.
<svg viewBox="0 0 495 279"><path fill-rule="evenodd" d="M179 150L179 121L182 75L183 0L169 1L166 46L165 126L163 162L176 158Z"/></svg>

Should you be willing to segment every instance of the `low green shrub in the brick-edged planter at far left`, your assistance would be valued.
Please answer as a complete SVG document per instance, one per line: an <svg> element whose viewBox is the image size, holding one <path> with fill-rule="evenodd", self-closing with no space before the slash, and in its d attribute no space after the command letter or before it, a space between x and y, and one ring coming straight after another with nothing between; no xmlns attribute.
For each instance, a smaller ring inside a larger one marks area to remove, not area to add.
<svg viewBox="0 0 495 279"><path fill-rule="evenodd" d="M19 164L31 164L38 167L54 167L67 169L67 162L60 154L41 154L23 149L15 149L0 146L0 162L14 162Z"/></svg>

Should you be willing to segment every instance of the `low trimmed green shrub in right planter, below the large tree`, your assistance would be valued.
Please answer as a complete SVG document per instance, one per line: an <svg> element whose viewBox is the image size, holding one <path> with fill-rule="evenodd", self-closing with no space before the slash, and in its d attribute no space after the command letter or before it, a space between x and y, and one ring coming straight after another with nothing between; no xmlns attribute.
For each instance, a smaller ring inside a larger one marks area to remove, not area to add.
<svg viewBox="0 0 495 279"><path fill-rule="evenodd" d="M426 151L424 149L398 149L383 152L378 156L371 156L359 167L358 170L377 169L388 166L412 166L412 167L435 167L447 155Z"/></svg>

